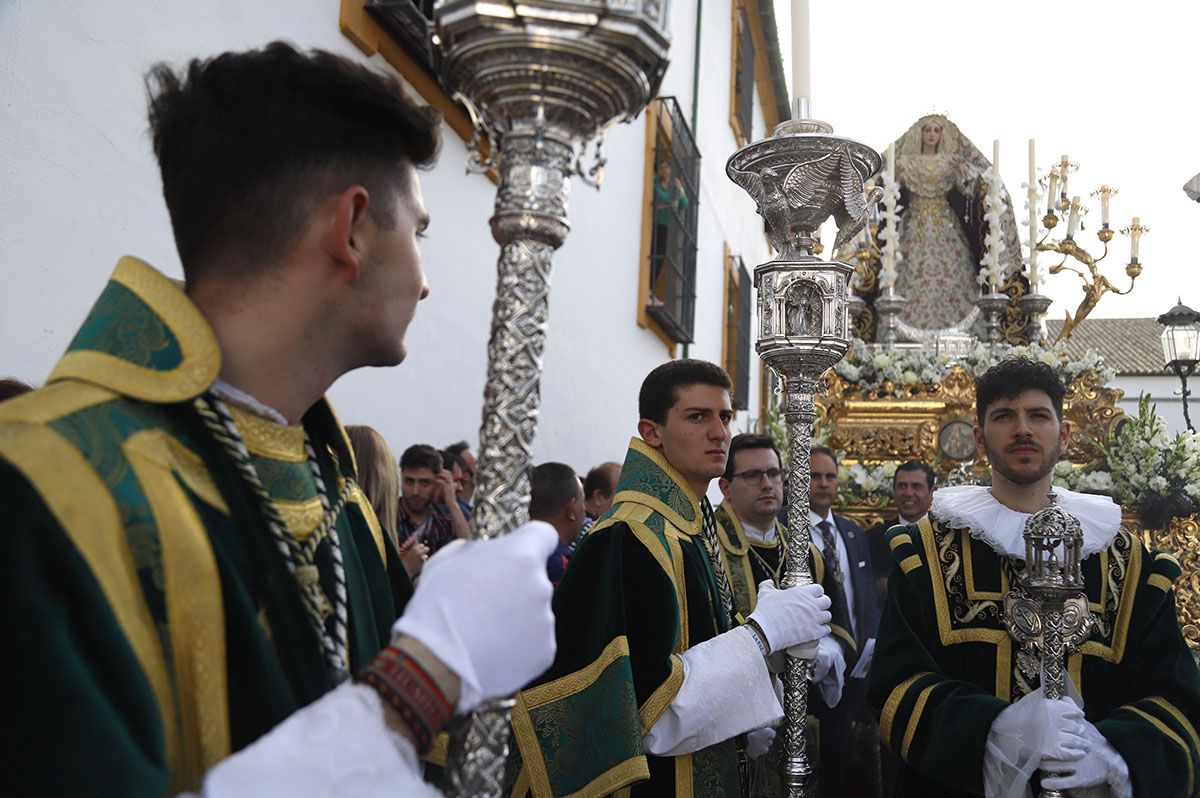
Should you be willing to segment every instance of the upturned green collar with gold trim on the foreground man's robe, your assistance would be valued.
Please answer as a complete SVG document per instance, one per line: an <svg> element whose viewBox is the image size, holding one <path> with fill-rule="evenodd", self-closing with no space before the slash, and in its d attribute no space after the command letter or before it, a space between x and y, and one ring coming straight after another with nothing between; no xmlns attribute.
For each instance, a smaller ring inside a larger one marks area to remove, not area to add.
<svg viewBox="0 0 1200 798"><path fill-rule="evenodd" d="M167 403L199 396L220 371L221 348L199 308L154 266L125 257L47 382Z"/></svg>

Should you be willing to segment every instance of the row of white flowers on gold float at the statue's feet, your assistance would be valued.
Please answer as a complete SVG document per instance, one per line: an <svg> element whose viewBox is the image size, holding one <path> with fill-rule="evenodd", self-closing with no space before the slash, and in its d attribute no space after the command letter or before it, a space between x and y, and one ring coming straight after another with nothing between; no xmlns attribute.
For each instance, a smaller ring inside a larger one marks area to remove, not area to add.
<svg viewBox="0 0 1200 798"><path fill-rule="evenodd" d="M1088 349L1080 359L1073 359L1062 342L1050 347L1036 343L1016 347L976 343L965 355L952 358L924 349L876 352L862 338L851 341L850 352L834 366L834 372L864 394L905 396L917 392L917 386L940 383L952 366L962 366L967 373L977 377L1001 360L1021 356L1054 366L1068 385L1087 372L1096 372L1100 384L1106 384L1116 376L1094 349Z"/></svg>

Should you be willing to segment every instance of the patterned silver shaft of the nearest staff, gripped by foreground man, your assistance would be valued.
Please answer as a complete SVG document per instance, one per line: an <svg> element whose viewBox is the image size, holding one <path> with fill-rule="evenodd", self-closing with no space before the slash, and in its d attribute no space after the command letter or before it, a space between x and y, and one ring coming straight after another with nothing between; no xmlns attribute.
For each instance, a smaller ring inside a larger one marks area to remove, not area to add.
<svg viewBox="0 0 1200 798"><path fill-rule="evenodd" d="M551 259L566 238L574 149L538 120L500 138L492 236L500 245L479 431L474 538L520 526L529 512L529 469L541 406ZM491 798L504 787L511 698L492 701L450 728L446 794Z"/></svg>

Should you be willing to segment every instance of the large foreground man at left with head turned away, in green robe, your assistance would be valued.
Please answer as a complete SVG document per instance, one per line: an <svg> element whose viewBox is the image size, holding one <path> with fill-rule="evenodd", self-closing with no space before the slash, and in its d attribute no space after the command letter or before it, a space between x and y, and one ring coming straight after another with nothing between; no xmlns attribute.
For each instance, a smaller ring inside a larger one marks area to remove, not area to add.
<svg viewBox="0 0 1200 798"><path fill-rule="evenodd" d="M553 653L552 532L413 593L324 398L404 358L438 113L283 43L148 85L186 287L122 258L0 406L0 793L437 794L432 736Z"/></svg>

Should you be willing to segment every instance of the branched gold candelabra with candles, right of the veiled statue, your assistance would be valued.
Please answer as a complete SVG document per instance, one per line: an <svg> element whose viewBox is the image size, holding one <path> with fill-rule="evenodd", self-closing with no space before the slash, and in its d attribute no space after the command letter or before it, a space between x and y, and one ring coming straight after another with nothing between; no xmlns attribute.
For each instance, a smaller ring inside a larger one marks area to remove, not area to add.
<svg viewBox="0 0 1200 798"><path fill-rule="evenodd" d="M1031 154L1031 184L1032 184L1032 155L1033 148L1032 142L1030 146ZM1063 323L1062 331L1058 334L1058 340L1070 337L1072 331L1075 326L1082 322L1088 313L1096 307L1100 299L1105 294L1123 295L1133 290L1133 286L1141 274L1141 262L1138 259L1139 244L1141 236L1150 232L1150 228L1141 223L1141 220L1136 216L1133 217L1133 222L1122 228L1121 233L1128 235L1130 240L1129 245L1129 263L1126 264L1126 276L1129 277L1129 287L1123 290L1112 284L1108 277L1100 274L1098 264L1109 256L1109 242L1112 240L1114 230L1109 224L1109 200L1117 194L1117 190L1111 186L1100 186L1091 193L1092 197L1100 200L1100 229L1096 232L1096 238L1100 240L1103 245L1103 251L1099 256L1092 254L1085 250L1076 240L1075 234L1080 230L1080 220L1087 214L1087 208L1080 203L1080 197L1078 194L1069 196L1068 184L1070 175L1079 169L1076 163L1072 163L1070 158L1066 155L1062 160L1050 169L1049 186L1046 191L1046 212L1042 217L1042 224L1045 227L1045 234L1037 239L1037 227L1033 224L1036 214L1031 210L1031 224L1030 224L1030 284L1033 289L1033 295L1026 300L1027 305L1025 308L1027 313L1031 314L1031 323L1037 323L1040 328L1042 313L1049 307L1049 300L1036 293L1038 284L1038 254L1042 252L1052 252L1061 254L1062 259L1051 265L1046 271L1051 275L1057 275L1063 271L1069 271L1072 274L1079 275L1080 280L1084 281L1082 290L1084 299L1079 302L1075 308L1075 313L1067 313L1067 319ZM1066 235L1058 240L1051 240L1054 229L1058 226L1060 217L1067 218L1067 230ZM1036 244L1034 244L1036 241ZM1043 306L1044 300L1044 306Z"/></svg>

